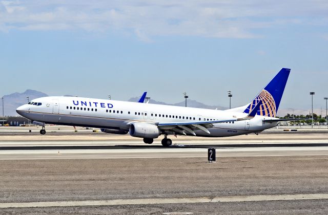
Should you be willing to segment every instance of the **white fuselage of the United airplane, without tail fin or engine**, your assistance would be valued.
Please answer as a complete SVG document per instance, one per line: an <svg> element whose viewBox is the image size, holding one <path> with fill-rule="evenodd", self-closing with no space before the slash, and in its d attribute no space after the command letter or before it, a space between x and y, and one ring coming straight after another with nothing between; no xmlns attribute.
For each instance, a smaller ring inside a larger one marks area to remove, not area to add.
<svg viewBox="0 0 328 215"><path fill-rule="evenodd" d="M31 102L34 102L34 104L25 104L18 107L17 113L30 120L50 124L126 131L129 130L131 122L152 124L196 122L247 116L247 114L241 112L81 97L42 97ZM201 130L197 130L195 133L197 136L204 137L227 137L258 133L277 126L277 122L264 123L263 119L271 118L256 115L251 120L215 123L213 127L209 128L210 134Z"/></svg>

